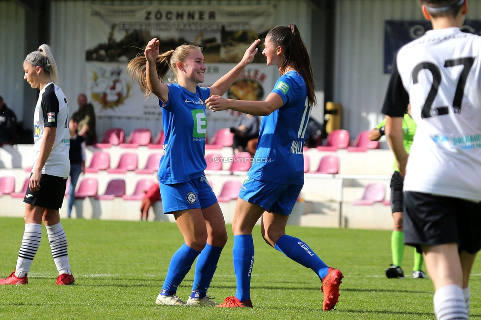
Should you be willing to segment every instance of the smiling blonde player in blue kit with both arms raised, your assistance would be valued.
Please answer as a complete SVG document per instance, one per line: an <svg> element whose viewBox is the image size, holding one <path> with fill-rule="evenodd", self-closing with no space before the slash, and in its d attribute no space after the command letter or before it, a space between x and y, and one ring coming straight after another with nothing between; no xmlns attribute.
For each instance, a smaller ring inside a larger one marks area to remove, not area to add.
<svg viewBox="0 0 481 320"><path fill-rule="evenodd" d="M206 144L206 99L223 95L252 62L260 40L245 51L239 64L203 88L206 65L201 48L181 45L159 55L159 40L149 41L143 55L132 60L127 70L147 96L159 97L163 110L164 150L159 166L160 192L164 213L173 214L185 243L172 256L162 291L156 303L161 305L217 305L207 289L227 242L224 216L209 186L204 170ZM173 77L163 83L169 68ZM159 81L160 80L160 81ZM192 294L187 303L177 295L177 287L195 266Z"/></svg>

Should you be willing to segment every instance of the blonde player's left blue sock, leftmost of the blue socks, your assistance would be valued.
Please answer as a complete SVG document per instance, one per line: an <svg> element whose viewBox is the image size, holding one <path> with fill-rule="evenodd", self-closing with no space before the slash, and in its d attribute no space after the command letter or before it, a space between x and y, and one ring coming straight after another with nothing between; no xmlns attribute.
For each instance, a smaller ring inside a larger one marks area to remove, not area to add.
<svg viewBox="0 0 481 320"><path fill-rule="evenodd" d="M177 287L184 280L185 275L192 267L192 263L200 252L187 246L185 243L173 254L166 279L162 286L162 294L168 295L177 292Z"/></svg>

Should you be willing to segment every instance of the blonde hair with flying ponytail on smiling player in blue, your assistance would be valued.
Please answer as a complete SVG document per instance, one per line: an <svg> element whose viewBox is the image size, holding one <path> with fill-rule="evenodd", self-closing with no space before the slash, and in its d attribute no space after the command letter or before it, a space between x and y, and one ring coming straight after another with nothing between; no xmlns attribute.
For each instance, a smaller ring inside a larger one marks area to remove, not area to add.
<svg viewBox="0 0 481 320"><path fill-rule="evenodd" d="M172 70L173 74L169 77L169 82L177 82L177 62L184 62L193 50L201 50L193 44L183 44L175 48L175 50L167 51L160 54L155 60L155 69L157 70L157 76L160 82L164 82L164 78L169 71ZM152 91L147 86L147 73L146 73L147 58L144 53L139 53L137 57L132 59L127 65L127 72L131 75L132 80L136 81L145 95L148 97L152 94ZM173 76L173 77L172 77Z"/></svg>

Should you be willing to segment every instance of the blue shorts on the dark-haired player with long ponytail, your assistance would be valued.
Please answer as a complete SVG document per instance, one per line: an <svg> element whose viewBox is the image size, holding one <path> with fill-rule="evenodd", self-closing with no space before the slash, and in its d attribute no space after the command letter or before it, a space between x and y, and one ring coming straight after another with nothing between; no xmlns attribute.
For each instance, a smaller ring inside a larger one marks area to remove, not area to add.
<svg viewBox="0 0 481 320"><path fill-rule="evenodd" d="M288 216L296 204L302 185L284 185L262 182L250 177L244 181L239 197L250 203L258 204L269 212Z"/></svg>

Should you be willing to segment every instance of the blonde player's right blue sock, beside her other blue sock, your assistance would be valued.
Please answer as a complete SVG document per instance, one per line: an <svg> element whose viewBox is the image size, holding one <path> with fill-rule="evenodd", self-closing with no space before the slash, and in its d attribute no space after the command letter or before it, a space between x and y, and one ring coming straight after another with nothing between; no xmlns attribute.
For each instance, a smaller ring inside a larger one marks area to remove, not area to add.
<svg viewBox="0 0 481 320"><path fill-rule="evenodd" d="M202 298L207 295L207 289L214 276L222 249L224 247L212 247L206 244L204 250L197 257L194 284L192 285L192 294L190 295L192 298Z"/></svg>

